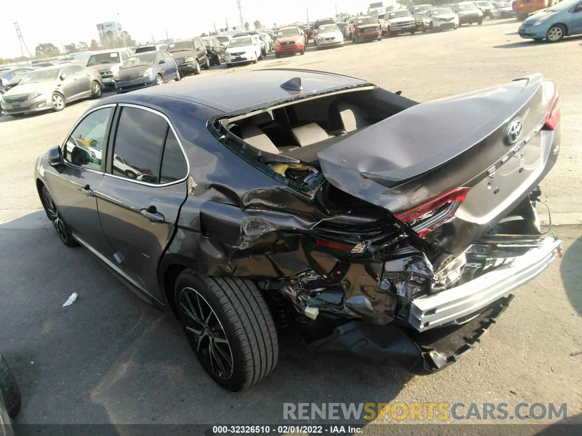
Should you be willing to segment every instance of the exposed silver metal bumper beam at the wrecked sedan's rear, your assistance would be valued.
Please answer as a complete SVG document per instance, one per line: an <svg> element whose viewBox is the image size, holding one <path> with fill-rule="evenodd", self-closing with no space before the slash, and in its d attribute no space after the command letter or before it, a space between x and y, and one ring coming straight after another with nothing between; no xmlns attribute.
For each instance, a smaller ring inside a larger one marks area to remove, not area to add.
<svg viewBox="0 0 582 436"><path fill-rule="evenodd" d="M537 277L556 259L562 241L546 238L516 258L508 267L499 268L468 283L435 295L413 300L409 323L422 332L471 316L499 298L507 297L515 288Z"/></svg>

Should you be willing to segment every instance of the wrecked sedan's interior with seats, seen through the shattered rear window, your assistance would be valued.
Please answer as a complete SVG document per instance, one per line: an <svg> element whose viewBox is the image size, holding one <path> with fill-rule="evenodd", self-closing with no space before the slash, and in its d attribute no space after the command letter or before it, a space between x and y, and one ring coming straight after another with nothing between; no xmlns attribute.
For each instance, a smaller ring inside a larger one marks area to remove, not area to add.
<svg viewBox="0 0 582 436"><path fill-rule="evenodd" d="M317 165L318 152L416 104L368 87L274 106L223 125L257 151Z"/></svg>

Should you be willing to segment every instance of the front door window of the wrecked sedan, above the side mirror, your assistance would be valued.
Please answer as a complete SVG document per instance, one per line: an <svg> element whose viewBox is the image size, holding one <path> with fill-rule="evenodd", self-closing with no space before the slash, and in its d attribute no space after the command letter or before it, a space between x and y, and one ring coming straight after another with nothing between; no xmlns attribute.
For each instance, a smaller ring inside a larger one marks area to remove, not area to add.
<svg viewBox="0 0 582 436"><path fill-rule="evenodd" d="M84 117L65 144L65 159L73 165L100 171L112 113L113 108L103 108Z"/></svg>

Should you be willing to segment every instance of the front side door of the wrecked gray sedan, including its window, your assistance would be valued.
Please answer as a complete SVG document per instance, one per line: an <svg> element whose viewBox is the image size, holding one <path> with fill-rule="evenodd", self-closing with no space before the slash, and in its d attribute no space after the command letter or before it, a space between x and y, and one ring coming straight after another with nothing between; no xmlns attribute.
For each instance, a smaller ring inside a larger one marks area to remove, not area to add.
<svg viewBox="0 0 582 436"><path fill-rule="evenodd" d="M74 128L63 145L65 166L60 173L45 173L47 188L73 233L108 260L113 249L105 240L95 190L105 169L105 152L109 126L115 105L88 113Z"/></svg>

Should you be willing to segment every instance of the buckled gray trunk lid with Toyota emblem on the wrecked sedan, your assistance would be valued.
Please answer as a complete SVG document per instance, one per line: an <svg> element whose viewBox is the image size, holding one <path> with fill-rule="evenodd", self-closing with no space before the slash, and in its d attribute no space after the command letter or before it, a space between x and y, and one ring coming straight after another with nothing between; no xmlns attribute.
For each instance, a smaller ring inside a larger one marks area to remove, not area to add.
<svg viewBox="0 0 582 436"><path fill-rule="evenodd" d="M534 74L413 106L319 152L321 169L336 188L396 215L471 188L457 210L471 231L439 241L431 235L443 251L462 251L505 217L546 167L548 145L539 131L553 94L543 83ZM516 121L521 130L512 142Z"/></svg>

